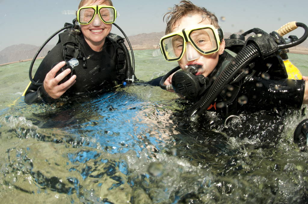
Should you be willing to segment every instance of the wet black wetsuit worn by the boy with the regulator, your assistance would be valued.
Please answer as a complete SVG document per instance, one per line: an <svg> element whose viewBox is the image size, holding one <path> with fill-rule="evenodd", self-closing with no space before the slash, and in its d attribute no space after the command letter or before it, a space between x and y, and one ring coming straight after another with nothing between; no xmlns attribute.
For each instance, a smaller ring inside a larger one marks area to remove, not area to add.
<svg viewBox="0 0 308 204"><path fill-rule="evenodd" d="M233 57L224 52L219 57L212 75L217 76L232 60ZM305 80L278 79L273 76L269 79L257 73L248 74L241 82L227 86L208 110L229 116L241 112L281 108L299 109L302 106L304 90Z"/></svg>

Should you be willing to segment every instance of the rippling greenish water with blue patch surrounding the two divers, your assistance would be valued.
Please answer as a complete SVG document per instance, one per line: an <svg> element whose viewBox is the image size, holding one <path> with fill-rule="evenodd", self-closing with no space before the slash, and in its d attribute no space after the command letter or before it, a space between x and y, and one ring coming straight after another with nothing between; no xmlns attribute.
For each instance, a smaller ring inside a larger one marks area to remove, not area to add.
<svg viewBox="0 0 308 204"><path fill-rule="evenodd" d="M176 66L152 51L135 51L141 80ZM307 55L289 58L308 75ZM26 105L29 65L0 67L1 203L308 203L308 155L293 143L306 109L193 123L146 85Z"/></svg>

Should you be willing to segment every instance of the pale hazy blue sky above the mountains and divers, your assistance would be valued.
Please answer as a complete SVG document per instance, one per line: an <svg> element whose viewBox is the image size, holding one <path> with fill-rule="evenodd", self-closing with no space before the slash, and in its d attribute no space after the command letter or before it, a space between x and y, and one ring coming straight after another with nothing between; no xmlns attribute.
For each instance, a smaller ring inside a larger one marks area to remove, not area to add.
<svg viewBox="0 0 308 204"><path fill-rule="evenodd" d="M127 36L164 31L163 15L178 2L113 0L116 10L120 13L116 24ZM306 0L192 2L214 12L224 32L235 33L258 27L270 33L290 21L308 25ZM7 46L21 43L42 45L52 33L62 28L65 22L72 22L75 15L65 13L77 10L78 4L79 0L0 0L0 51ZM115 27L112 32L120 34ZM298 28L292 34L300 37L302 33L303 30ZM51 44L57 41L58 37L55 37Z"/></svg>

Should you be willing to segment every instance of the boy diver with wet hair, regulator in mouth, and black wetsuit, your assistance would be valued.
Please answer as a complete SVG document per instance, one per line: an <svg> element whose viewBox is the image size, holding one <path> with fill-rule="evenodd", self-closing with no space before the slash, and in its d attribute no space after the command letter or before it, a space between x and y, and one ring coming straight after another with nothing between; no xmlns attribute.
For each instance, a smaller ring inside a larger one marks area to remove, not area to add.
<svg viewBox="0 0 308 204"><path fill-rule="evenodd" d="M171 74L167 79L164 77L160 86L169 91L174 88L181 97L199 100L205 89L213 84L226 66L234 62L234 58L224 51L223 33L213 13L190 1L180 1L180 4L175 5L166 15L166 35L160 40L160 49L166 61L178 61L182 70ZM266 64L270 63L256 63L258 66ZM227 117L243 111L299 109L302 104L307 104L307 81L286 80L287 77L278 78L268 76L267 73L258 75L248 72L243 71L246 77L227 85L212 105L205 108ZM204 84L204 88L198 91L197 86L183 86L188 75L190 78L197 77L197 81Z"/></svg>

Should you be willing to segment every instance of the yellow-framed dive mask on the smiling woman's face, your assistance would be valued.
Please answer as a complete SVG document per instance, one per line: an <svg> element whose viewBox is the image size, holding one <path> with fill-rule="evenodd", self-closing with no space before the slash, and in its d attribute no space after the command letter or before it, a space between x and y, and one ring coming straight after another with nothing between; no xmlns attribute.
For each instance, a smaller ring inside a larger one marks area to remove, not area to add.
<svg viewBox="0 0 308 204"><path fill-rule="evenodd" d="M80 24L90 24L95 15L98 14L99 18L104 23L114 23L117 17L117 12L113 6L83 6L77 11L77 20Z"/></svg>

